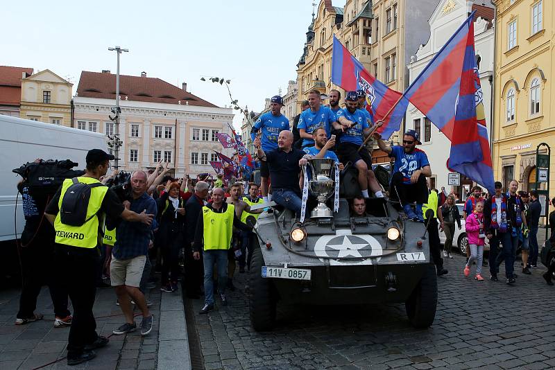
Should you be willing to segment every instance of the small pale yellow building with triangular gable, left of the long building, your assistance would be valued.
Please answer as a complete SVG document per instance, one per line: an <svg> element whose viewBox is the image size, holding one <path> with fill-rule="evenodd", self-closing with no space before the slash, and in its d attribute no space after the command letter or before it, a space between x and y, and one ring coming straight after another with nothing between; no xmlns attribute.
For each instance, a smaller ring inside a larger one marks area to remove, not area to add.
<svg viewBox="0 0 555 370"><path fill-rule="evenodd" d="M22 79L21 118L71 127L71 87L49 69Z"/></svg>

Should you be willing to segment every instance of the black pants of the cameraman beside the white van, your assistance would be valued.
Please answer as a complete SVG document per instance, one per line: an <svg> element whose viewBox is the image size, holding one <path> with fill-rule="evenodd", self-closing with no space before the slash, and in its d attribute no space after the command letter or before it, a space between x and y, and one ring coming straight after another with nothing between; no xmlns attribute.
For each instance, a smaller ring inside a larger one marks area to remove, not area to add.
<svg viewBox="0 0 555 370"><path fill-rule="evenodd" d="M60 283L60 270L54 266L56 256L54 255L53 236L37 235L28 245L20 247L19 256L22 261L22 295L19 297L18 319L26 319L33 316L37 308L37 297L42 285L46 283L50 290L50 297L54 306L54 315L66 317L67 290ZM22 238L22 241L24 238Z"/></svg>

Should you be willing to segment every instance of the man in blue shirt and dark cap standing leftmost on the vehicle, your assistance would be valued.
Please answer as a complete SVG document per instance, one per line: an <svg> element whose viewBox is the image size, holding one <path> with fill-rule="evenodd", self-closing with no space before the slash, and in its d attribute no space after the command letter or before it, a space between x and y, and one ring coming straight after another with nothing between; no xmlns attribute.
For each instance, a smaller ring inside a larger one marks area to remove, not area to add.
<svg viewBox="0 0 555 370"><path fill-rule="evenodd" d="M262 142L262 150L270 152L278 148L278 136L283 130L289 130L289 120L281 113L283 107L283 98L279 95L272 96L270 100L270 112L266 112L260 116L253 130L250 132L250 139L255 141L257 134L260 134L260 141ZM260 186L262 191L262 199L268 202L268 177L270 171L268 164L262 161L260 164Z"/></svg>

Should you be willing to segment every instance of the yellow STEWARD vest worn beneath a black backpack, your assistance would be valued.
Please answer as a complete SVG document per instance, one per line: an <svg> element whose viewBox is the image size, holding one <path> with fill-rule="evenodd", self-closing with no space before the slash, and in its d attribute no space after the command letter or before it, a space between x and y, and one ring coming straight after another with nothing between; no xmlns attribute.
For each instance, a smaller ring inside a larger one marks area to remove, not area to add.
<svg viewBox="0 0 555 370"><path fill-rule="evenodd" d="M83 184L95 184L99 182L92 177L77 177L78 181ZM73 182L71 179L65 179L62 184L62 192L60 193L60 200L58 207L62 209L62 200L64 199L67 188ZM99 243L99 211L104 200L104 195L108 191L108 186L98 186L91 189L91 197L89 199L89 206L87 207L87 222L81 226L71 226L69 224L62 224L60 212L56 215L54 220L54 229L56 230L56 243L71 245L73 247L81 248L94 248Z"/></svg>

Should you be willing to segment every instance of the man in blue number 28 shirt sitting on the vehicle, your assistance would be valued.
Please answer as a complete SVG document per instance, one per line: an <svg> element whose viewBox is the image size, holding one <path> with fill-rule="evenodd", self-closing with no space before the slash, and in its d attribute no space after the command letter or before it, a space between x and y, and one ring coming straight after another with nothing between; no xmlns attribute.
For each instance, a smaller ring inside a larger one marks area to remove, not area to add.
<svg viewBox="0 0 555 370"><path fill-rule="evenodd" d="M389 157L395 158L393 177L391 178L390 197L397 198L409 220L424 222L422 218L422 204L428 199L428 186L426 177L432 176L432 169L426 153L416 148L420 134L415 130L407 130L403 136L402 146L388 146L382 140L382 135L373 134L377 139L380 150ZM411 203L416 201L416 213L413 212Z"/></svg>

